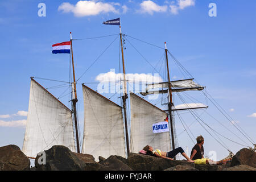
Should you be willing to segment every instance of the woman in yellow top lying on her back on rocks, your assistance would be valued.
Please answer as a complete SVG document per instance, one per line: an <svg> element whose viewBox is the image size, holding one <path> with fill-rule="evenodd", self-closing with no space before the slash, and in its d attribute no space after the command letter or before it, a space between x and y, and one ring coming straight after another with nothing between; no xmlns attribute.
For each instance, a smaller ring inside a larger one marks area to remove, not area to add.
<svg viewBox="0 0 256 182"><path fill-rule="evenodd" d="M175 148L175 150L172 150L170 152L163 152L158 149L154 151L153 147L147 145L143 148L143 151L146 151L146 155L151 155L158 158L170 159L170 160L174 160L172 158L174 158L174 156L180 153L181 155L184 156L184 158L187 159L187 162L191 162L191 163L194 162L187 156L187 154L185 154L184 150L181 147ZM142 153L142 151L140 151L140 153Z"/></svg>

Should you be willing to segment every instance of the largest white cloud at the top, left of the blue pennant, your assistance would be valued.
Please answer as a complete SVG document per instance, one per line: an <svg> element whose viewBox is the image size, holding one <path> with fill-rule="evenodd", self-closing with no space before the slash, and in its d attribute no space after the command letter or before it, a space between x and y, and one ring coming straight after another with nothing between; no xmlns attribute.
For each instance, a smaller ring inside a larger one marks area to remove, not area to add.
<svg viewBox="0 0 256 182"><path fill-rule="evenodd" d="M79 1L76 5L72 5L71 3L64 2L59 6L58 10L63 11L63 13L73 13L78 17L98 15L101 13L119 14L119 10L114 6L120 6L120 4L112 2ZM123 7L123 11L125 10L127 9Z"/></svg>

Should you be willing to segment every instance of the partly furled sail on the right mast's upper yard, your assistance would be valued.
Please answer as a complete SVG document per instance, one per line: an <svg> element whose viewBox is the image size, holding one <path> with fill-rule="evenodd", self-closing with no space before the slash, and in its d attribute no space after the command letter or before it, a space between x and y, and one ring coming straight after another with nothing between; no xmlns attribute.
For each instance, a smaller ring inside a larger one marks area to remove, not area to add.
<svg viewBox="0 0 256 182"><path fill-rule="evenodd" d="M146 92L150 89L156 89L156 88L168 88L168 82L162 82L162 83L156 83L156 84L148 84L146 88ZM190 89L197 89L202 90L204 89L203 86L196 84L196 82L193 81L193 78L187 79L187 80L177 80L177 81L171 81L171 87L173 88L186 88L187 90ZM181 91L181 90L180 90ZM184 91L184 90L182 90ZM178 91L177 91L178 92Z"/></svg>

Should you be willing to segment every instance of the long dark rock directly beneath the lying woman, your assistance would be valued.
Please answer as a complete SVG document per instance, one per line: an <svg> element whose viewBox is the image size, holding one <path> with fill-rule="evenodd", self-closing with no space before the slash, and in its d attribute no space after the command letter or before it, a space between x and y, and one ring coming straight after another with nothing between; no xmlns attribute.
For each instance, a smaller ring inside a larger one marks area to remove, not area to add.
<svg viewBox="0 0 256 182"><path fill-rule="evenodd" d="M169 160L156 158L154 156L130 153L128 156L128 166L135 171L163 171L164 169L177 165L185 165L195 167L195 164L181 160Z"/></svg>

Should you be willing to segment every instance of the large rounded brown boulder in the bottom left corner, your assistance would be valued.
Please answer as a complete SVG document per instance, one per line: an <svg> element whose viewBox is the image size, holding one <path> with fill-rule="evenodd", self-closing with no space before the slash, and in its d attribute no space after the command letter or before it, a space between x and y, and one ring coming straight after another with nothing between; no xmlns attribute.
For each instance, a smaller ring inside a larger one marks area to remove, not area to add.
<svg viewBox="0 0 256 182"><path fill-rule="evenodd" d="M29 171L30 160L18 146L0 147L0 171Z"/></svg>

